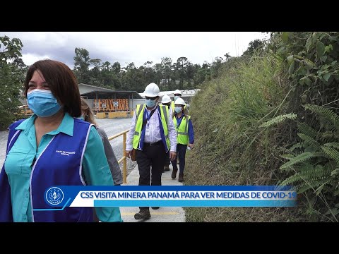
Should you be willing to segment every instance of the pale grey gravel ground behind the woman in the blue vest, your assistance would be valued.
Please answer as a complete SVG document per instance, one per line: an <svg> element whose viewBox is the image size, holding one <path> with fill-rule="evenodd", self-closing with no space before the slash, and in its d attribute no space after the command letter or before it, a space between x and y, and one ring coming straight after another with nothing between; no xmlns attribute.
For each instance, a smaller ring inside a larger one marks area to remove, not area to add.
<svg viewBox="0 0 339 254"><path fill-rule="evenodd" d="M107 136L110 137L121 131L125 131L129 129L131 124L131 119L95 119L97 121L97 125L100 128L104 129L107 133ZM4 164L4 160L6 157L6 145L7 145L7 137L8 131L0 131L0 167ZM114 140L110 141L114 154L119 160L122 157L122 135L118 138L114 138ZM127 175L129 172L136 166L136 162L132 162L131 159L127 159ZM120 164L120 168L122 170L122 162Z"/></svg>

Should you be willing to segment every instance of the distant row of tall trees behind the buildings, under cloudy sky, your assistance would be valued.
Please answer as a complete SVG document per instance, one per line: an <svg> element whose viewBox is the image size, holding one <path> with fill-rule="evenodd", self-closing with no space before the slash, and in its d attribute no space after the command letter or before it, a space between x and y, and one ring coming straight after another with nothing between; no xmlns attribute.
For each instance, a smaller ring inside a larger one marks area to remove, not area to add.
<svg viewBox="0 0 339 254"><path fill-rule="evenodd" d="M74 73L79 83L96 85L115 90L134 90L143 92L145 86L155 82L160 90L189 90L201 85L205 80L219 75L224 61L230 59L226 53L225 60L215 57L212 63L194 64L182 56L173 62L170 57L163 57L160 63L146 61L143 66L133 62L121 67L119 62L109 63L101 59L90 59L87 49L76 48L74 56Z"/></svg>

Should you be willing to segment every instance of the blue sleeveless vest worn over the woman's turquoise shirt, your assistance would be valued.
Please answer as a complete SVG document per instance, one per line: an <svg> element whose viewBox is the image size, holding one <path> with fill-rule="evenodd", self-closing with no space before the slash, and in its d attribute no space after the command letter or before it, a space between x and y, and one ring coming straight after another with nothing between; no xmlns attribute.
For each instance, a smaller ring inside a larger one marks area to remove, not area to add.
<svg viewBox="0 0 339 254"><path fill-rule="evenodd" d="M20 130L15 130L20 122L21 120L13 123L9 128L7 154L20 134ZM34 209L42 208L60 208L47 205L44 201L47 188L85 185L81 176L81 162L90 126L90 123L74 119L73 137L65 133L55 135L37 158L30 177L30 198L34 222L93 222L93 207L65 207L64 210L34 211ZM13 222L11 188L4 167L0 174L0 190L0 222Z"/></svg>

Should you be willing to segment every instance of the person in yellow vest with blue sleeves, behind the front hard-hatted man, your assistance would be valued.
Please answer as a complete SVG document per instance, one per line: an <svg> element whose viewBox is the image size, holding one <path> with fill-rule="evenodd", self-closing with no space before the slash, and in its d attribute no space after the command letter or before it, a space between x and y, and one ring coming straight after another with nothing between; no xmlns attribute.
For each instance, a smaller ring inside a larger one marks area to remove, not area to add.
<svg viewBox="0 0 339 254"><path fill-rule="evenodd" d="M178 181L184 181L185 157L186 149L194 147L194 129L191 121L191 116L184 113L184 99L178 98L174 102L173 123L177 128L177 156L179 156L179 177ZM172 179L177 177L177 157L171 160L173 171Z"/></svg>

